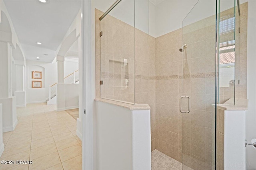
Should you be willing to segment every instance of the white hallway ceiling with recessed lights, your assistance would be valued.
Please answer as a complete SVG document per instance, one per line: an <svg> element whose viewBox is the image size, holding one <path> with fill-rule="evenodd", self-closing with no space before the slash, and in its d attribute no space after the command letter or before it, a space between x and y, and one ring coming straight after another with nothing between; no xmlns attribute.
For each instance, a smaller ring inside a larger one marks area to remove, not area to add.
<svg viewBox="0 0 256 170"><path fill-rule="evenodd" d="M52 62L80 0L4 0L27 60ZM36 44L41 42L42 45ZM45 55L46 54L46 55Z"/></svg>

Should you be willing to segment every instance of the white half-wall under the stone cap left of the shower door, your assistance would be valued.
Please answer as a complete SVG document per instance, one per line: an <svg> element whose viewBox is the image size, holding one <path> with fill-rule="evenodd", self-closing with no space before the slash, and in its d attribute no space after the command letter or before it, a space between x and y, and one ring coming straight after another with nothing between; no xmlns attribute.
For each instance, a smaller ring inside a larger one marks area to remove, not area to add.
<svg viewBox="0 0 256 170"><path fill-rule="evenodd" d="M96 102L97 170L150 170L150 110Z"/></svg>

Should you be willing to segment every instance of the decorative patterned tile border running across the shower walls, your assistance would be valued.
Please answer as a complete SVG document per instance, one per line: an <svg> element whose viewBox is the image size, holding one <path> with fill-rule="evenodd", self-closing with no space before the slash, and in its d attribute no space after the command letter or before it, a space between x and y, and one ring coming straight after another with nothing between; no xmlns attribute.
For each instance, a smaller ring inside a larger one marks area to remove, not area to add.
<svg viewBox="0 0 256 170"><path fill-rule="evenodd" d="M219 74L217 73L217 76ZM182 75L170 75L170 76L141 76L141 75L123 75L123 74L113 74L108 72L101 73L102 78L132 78L136 80L172 80L181 78L215 78L215 72L208 73L197 73L197 74L184 74Z"/></svg>

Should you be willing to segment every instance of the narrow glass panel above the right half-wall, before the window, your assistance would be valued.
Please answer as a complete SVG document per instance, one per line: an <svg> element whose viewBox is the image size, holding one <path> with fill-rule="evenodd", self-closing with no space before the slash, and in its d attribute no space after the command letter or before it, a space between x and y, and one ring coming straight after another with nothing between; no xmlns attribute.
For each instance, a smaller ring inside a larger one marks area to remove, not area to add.
<svg viewBox="0 0 256 170"><path fill-rule="evenodd" d="M235 102L236 0L219 1L219 102Z"/></svg>

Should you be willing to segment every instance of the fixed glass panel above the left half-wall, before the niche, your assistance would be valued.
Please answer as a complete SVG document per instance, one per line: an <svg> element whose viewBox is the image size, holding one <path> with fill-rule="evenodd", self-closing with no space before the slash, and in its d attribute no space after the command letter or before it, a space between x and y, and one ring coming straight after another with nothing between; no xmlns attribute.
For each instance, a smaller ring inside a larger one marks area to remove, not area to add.
<svg viewBox="0 0 256 170"><path fill-rule="evenodd" d="M122 0L100 31L101 98L134 104L134 1Z"/></svg>

